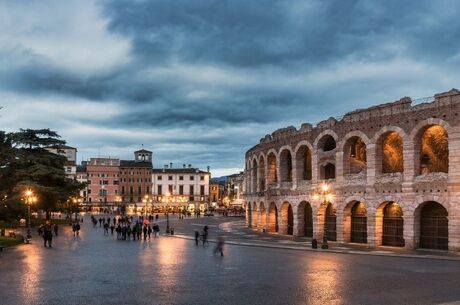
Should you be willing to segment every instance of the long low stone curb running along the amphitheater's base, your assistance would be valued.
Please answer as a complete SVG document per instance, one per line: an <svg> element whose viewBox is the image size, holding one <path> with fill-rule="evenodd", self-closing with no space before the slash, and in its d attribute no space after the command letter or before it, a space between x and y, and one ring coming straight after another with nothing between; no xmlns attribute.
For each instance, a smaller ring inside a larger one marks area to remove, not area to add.
<svg viewBox="0 0 460 305"><path fill-rule="evenodd" d="M192 236L186 235L163 235L165 237L175 237L181 239L195 240ZM208 240L209 242L216 243L214 239ZM237 241L226 241L226 244L246 246L246 247L260 247L260 248L272 248L272 249L286 249L286 250L301 250L310 251L316 253L328 252L328 253L339 253L339 254L358 254L358 255L370 255L370 256L385 256L385 257L398 257L398 258L419 258L419 259L430 259L430 260L445 260L445 261L460 261L460 257L447 257L439 255L417 255L417 254L398 254L398 253L376 253L376 252L364 252L357 250L334 250L334 249L311 249L307 247L298 246L283 246L283 245L272 245L272 244L251 244L246 242Z"/></svg>

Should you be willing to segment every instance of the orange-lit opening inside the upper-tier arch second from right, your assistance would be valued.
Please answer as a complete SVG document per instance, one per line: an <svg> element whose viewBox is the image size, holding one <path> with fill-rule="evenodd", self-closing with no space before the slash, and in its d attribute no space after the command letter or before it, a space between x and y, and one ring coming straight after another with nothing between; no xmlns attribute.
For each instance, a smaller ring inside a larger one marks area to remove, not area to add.
<svg viewBox="0 0 460 305"><path fill-rule="evenodd" d="M378 173L404 171L403 140L396 131L386 132L377 140L376 154Z"/></svg>

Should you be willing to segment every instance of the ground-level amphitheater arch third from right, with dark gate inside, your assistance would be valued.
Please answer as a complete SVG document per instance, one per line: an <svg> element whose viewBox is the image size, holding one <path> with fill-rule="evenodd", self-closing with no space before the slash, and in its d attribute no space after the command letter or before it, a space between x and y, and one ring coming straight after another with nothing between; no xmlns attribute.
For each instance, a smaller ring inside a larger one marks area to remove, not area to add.
<svg viewBox="0 0 460 305"><path fill-rule="evenodd" d="M367 243L367 208L364 201L352 200L344 208L344 240L354 243Z"/></svg>

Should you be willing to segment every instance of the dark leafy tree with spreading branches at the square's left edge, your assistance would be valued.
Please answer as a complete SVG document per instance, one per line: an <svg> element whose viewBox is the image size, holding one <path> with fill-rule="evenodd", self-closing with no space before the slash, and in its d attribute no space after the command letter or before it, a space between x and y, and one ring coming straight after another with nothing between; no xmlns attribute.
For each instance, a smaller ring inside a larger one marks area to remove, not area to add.
<svg viewBox="0 0 460 305"><path fill-rule="evenodd" d="M0 177L2 182L7 181L4 191L10 193L11 201L18 202L26 189L32 189L38 197L35 208L44 210L49 218L60 203L66 202L70 196L78 196L84 185L66 177L66 158L46 149L64 144L65 141L49 129L21 129L6 136L3 133L0 145L5 151L7 164Z"/></svg>

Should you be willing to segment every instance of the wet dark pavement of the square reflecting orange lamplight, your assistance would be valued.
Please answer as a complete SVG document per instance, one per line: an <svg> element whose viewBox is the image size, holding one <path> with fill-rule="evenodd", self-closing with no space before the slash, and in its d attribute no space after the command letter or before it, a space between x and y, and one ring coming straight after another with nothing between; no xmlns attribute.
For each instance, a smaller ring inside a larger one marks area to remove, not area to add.
<svg viewBox="0 0 460 305"><path fill-rule="evenodd" d="M178 233L222 219L172 220ZM160 221L164 233L164 219ZM222 228L222 227L221 227ZM225 229L225 227L223 228ZM237 231L238 232L238 231ZM250 235L250 234L249 234ZM250 237L249 237L250 238ZM248 239L249 239L248 238ZM460 300L460 262L214 244L160 236L117 241L85 220L52 249L0 253L0 304L441 304Z"/></svg>

